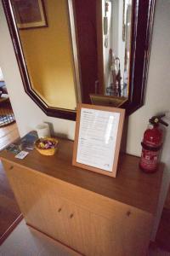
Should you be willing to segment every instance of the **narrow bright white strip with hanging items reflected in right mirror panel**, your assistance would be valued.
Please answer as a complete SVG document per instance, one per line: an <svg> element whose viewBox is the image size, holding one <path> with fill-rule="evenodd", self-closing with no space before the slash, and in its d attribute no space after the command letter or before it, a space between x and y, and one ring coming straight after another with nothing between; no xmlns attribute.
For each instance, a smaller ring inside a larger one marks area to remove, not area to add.
<svg viewBox="0 0 170 256"><path fill-rule="evenodd" d="M132 0L103 0L104 95L128 96Z"/></svg>

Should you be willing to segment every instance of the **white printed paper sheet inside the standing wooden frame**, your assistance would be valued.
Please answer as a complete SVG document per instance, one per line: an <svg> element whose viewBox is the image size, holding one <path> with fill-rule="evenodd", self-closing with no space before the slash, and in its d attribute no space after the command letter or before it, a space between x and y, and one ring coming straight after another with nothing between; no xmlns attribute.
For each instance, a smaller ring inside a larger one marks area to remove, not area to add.
<svg viewBox="0 0 170 256"><path fill-rule="evenodd" d="M77 162L111 172L120 113L82 108Z"/></svg>

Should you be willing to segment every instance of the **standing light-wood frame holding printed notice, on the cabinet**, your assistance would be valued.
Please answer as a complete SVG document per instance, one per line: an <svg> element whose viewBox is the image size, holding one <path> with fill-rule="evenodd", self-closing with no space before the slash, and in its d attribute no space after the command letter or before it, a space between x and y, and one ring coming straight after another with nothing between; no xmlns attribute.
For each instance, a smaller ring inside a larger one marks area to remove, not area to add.
<svg viewBox="0 0 170 256"><path fill-rule="evenodd" d="M72 165L116 177L125 110L79 103Z"/></svg>

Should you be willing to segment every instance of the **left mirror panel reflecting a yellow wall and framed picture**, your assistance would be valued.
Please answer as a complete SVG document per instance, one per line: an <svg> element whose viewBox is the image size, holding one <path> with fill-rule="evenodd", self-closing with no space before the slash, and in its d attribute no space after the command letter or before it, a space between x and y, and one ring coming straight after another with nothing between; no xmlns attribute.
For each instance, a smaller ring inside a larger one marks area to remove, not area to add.
<svg viewBox="0 0 170 256"><path fill-rule="evenodd" d="M11 3L31 88L49 107L75 110L77 89L67 0Z"/></svg>

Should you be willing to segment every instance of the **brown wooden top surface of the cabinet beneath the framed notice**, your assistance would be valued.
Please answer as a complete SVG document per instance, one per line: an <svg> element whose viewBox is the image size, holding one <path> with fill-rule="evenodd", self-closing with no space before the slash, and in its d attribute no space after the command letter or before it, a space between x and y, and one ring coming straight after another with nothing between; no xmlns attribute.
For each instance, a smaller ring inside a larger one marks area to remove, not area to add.
<svg viewBox="0 0 170 256"><path fill-rule="evenodd" d="M16 159L6 150L0 157L146 212L156 212L163 164L156 173L146 174L139 169L138 157L121 154L116 177L108 177L72 166L72 152L73 142L59 139L59 150L53 156L43 156L34 149L24 160Z"/></svg>

